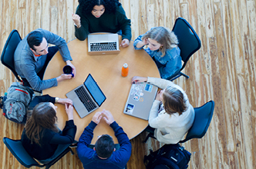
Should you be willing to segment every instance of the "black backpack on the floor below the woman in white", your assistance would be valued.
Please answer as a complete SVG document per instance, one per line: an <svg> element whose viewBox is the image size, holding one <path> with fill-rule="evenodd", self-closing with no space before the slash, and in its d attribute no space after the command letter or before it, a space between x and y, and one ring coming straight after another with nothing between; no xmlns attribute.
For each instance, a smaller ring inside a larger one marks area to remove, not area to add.
<svg viewBox="0 0 256 169"><path fill-rule="evenodd" d="M188 167L190 152L180 144L164 144L157 151L145 155L144 164L147 169L184 169Z"/></svg>

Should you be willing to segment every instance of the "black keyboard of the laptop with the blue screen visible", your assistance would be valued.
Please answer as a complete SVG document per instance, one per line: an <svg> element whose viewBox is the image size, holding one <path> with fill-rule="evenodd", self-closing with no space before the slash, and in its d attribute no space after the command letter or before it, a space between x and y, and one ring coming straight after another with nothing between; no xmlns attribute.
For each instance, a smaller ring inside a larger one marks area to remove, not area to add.
<svg viewBox="0 0 256 169"><path fill-rule="evenodd" d="M82 101L82 103L85 105L87 111L92 111L94 108L96 108L96 104L93 102L92 98L87 93L86 89L81 86L80 88L77 88L75 90L77 96Z"/></svg>

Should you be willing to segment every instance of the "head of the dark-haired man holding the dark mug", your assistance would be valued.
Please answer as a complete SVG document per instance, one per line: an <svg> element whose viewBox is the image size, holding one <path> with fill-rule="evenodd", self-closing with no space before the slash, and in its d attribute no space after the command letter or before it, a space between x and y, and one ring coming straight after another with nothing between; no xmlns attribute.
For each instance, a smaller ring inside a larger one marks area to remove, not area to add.
<svg viewBox="0 0 256 169"><path fill-rule="evenodd" d="M48 42L41 31L32 31L27 38L29 48L35 55L46 55L48 53Z"/></svg>

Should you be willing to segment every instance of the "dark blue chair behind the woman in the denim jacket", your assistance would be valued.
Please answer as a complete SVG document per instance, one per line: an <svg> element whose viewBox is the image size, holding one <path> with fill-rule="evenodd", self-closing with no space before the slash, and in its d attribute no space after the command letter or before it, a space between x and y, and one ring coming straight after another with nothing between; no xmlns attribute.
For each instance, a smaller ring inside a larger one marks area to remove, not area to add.
<svg viewBox="0 0 256 169"><path fill-rule="evenodd" d="M187 65L187 61L190 57L201 47L200 38L198 38L196 31L194 28L184 19L184 18L177 18L175 24L173 26L173 32L177 35L179 44L178 47L180 48L180 56L184 64L176 75L172 75L170 78L167 78L170 81L179 78L181 75L185 76L186 78L190 78L189 76L185 75L181 71ZM173 78L172 78L173 77Z"/></svg>

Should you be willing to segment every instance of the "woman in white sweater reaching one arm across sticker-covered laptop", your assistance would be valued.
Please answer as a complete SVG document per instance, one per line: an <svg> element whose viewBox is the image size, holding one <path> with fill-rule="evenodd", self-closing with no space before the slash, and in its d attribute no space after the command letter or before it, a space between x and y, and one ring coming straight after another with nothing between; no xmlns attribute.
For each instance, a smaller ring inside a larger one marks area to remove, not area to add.
<svg viewBox="0 0 256 169"><path fill-rule="evenodd" d="M184 90L162 78L134 76L132 83L147 81L161 88L150 110L149 124L155 128L154 137L164 144L177 144L194 122L194 108Z"/></svg>

